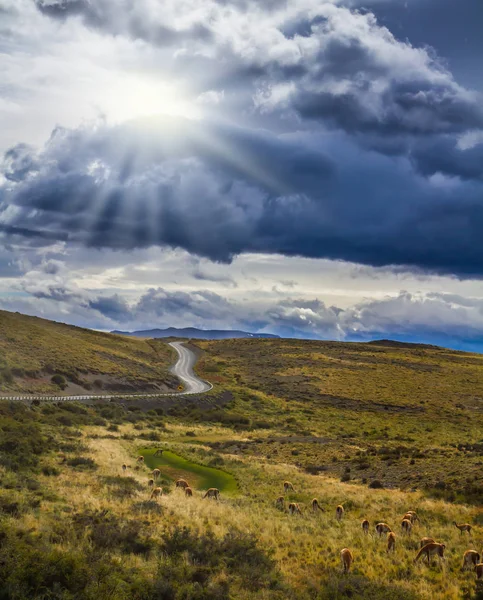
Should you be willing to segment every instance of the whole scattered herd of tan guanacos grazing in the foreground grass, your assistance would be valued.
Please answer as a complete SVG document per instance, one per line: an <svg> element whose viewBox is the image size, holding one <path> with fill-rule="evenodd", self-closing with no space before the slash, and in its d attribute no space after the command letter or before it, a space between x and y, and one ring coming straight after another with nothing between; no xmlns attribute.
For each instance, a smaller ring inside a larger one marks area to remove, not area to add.
<svg viewBox="0 0 483 600"><path fill-rule="evenodd" d="M138 456L136 462L139 464L144 464L144 457ZM127 471L127 465L122 465L122 471L125 473ZM156 479L161 475L161 471L159 469L153 469L152 478L148 480L148 487L153 488L151 491L151 499L159 498L163 490L160 487L154 487ZM193 489L190 487L189 483L186 479L178 479L176 481L176 487L184 490L186 497L193 496ZM295 492L295 488L290 481L284 481L283 490L286 494L287 492ZM203 498L214 498L218 500L220 497L220 490L218 488L209 488L202 496ZM279 496L275 501L275 506L280 509L285 508L285 497ZM311 507L313 512L322 511L325 512L325 509L322 508L317 498L314 498L311 502ZM288 512L290 515L302 514L302 509L297 502L290 502L288 505ZM344 518L345 510L342 504L339 504L335 509L335 518L337 521L342 521ZM418 522L420 519L417 513L413 510L408 510L402 520L401 520L401 530L403 534L410 535L413 524ZM468 523L456 523L453 521L453 525L460 530L460 532L468 533L471 536L471 525ZM362 532L365 535L369 534L370 523L367 519L364 519L361 523ZM387 552L395 552L396 551L396 534L392 531L391 527L387 523L377 523L375 526L376 534L379 537L382 537L384 534L387 536ZM423 537L420 541L420 550L414 559L414 562L417 562L421 557L426 561L428 565L431 563L431 559L433 556L439 557L440 560L445 560L444 551L446 549L445 544L441 544L436 542L431 537ZM343 548L340 553L340 559L342 563L342 570L344 573L349 573L352 563L354 562L354 555L349 548ZM483 562L480 562L481 555L476 552L476 550L467 550L463 555L463 570L474 569L476 573L477 579L483 579Z"/></svg>

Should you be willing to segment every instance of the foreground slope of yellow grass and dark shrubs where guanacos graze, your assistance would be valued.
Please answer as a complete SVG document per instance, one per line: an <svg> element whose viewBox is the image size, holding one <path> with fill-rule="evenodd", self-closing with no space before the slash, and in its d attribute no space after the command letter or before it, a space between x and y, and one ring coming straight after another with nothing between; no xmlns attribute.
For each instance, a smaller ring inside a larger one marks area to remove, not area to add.
<svg viewBox="0 0 483 600"><path fill-rule="evenodd" d="M0 597L481 599L474 572L461 570L464 551L482 549L481 508L372 490L240 454L236 448L252 439L252 433L188 428L112 404L28 409L0 403ZM231 453L213 449L213 442L226 440ZM150 501L150 469L136 465L147 445L185 457L188 466L178 462L177 474L190 483L194 464L216 465L236 478L238 489L222 493L219 502L203 500L197 489L185 498L160 465L163 496ZM286 504L298 502L302 515L275 506L286 479L296 490ZM314 497L325 512L309 510ZM341 523L335 519L340 503ZM408 509L421 521L405 536L400 520ZM371 523L367 536L363 518ZM472 538L453 520L472 523ZM394 554L374 535L379 521L397 534ZM414 564L427 535L446 544L444 563ZM348 575L340 566L343 547L355 559Z"/></svg>

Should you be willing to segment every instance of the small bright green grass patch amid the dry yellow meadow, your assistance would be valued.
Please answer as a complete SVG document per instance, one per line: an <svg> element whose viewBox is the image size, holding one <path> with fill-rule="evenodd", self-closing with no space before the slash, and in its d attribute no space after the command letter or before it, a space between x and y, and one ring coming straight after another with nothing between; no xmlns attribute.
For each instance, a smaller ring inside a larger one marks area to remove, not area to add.
<svg viewBox="0 0 483 600"><path fill-rule="evenodd" d="M238 492L236 479L230 473L205 467L191 462L174 452L164 450L161 456L154 456L155 448L141 450L145 463L151 469L159 469L167 478L175 481L180 477L189 481L191 487L198 490L207 490L216 487L224 494L235 495Z"/></svg>

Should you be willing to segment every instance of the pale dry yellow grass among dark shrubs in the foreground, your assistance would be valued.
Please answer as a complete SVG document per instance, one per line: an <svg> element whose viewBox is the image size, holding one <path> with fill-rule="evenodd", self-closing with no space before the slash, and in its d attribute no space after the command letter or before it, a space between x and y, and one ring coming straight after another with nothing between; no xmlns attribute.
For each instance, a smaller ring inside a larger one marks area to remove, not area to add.
<svg viewBox="0 0 483 600"><path fill-rule="evenodd" d="M212 431L197 428L199 434ZM99 430L91 429L90 433ZM124 433L130 426L123 428ZM192 458L200 453L200 447L174 441L182 433L181 426L166 435L169 447ZM72 473L63 470L55 480L45 478L52 491L67 502L73 511L101 510L108 508L125 518L132 518L133 502L149 498L147 480L149 470L136 468L135 458L142 442L122 439L86 439L92 457L99 465L93 473ZM203 449L201 447L201 449ZM204 448L209 452L209 447ZM225 456L227 468L234 473L241 485L241 493L233 499L222 498L220 502L202 500L201 494L185 498L181 490L163 495L159 503L162 517L143 515L150 522L154 539L159 539L166 527L176 524L189 525L200 531L207 529L223 536L233 527L256 533L263 547L272 549L276 562L289 585L298 590L301 598L318 594L318 598L344 598L360 594L361 598L418 598L430 600L460 600L464 590L474 587L474 574L461 572L463 552L468 548L481 549L482 530L475 528L470 541L452 526L452 521L475 522L482 519L481 511L474 507L452 505L430 500L419 492L369 490L367 487L346 485L326 477L306 475L293 465L273 464L265 460ZM103 483L106 476L121 476L121 465L128 464L126 476L135 478L143 490L129 500L119 500L108 492ZM290 517L275 508L275 499L283 491L284 480L293 482L296 493L288 499L303 507L301 516ZM324 513L312 514L310 501L317 497L326 509ZM335 507L342 503L346 514L341 523L335 519ZM406 510L416 510L421 522L416 524L411 536L400 532L400 521ZM55 503L51 510L58 510ZM360 523L363 518L371 522L371 533L364 536ZM30 517L31 519L31 517ZM49 511L39 513L38 519L49 526ZM379 521L389 523L397 534L394 555L386 553L386 540L374 535L374 525ZM30 520L30 523L32 521ZM42 526L42 525L40 525ZM413 564L419 539L432 536L447 545L447 561L427 567ZM354 566L350 575L343 575L339 553L349 547L354 554ZM123 558L122 560L125 560ZM134 556L127 559L126 566L142 566L146 574L155 569L154 561L140 560ZM312 592L310 592L312 590ZM352 590L352 592L350 592ZM236 597L244 596L242 591ZM307 594L307 596L306 596Z"/></svg>

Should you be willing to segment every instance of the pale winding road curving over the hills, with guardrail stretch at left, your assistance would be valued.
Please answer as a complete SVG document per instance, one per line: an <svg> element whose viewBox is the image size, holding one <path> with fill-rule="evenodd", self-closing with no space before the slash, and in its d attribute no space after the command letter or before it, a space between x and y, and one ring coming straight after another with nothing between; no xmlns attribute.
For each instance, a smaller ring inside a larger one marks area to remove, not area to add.
<svg viewBox="0 0 483 600"><path fill-rule="evenodd" d="M208 392L213 388L211 383L200 379L193 371L193 367L196 363L196 355L189 348L183 345L184 342L170 342L176 352L178 353L178 360L171 367L171 372L176 375L183 383L184 390L180 392L168 392L168 393L157 393L153 394L86 394L85 396L0 396L3 400L48 400L53 402L62 401L85 401L85 400L108 400L111 398L160 398L161 396L185 396L187 394L202 394Z"/></svg>

